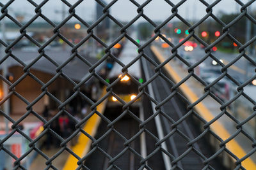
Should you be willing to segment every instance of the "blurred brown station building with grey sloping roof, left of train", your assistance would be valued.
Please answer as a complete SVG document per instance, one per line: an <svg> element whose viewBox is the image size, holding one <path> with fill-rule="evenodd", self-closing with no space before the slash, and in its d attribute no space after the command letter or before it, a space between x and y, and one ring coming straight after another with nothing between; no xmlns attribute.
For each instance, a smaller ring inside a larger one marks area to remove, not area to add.
<svg viewBox="0 0 256 170"><path fill-rule="evenodd" d="M45 53L59 65L67 61L71 55L70 50L69 52L46 51ZM14 50L13 55L22 60L24 64L28 65L33 62L33 60L40 54L36 51L24 52L22 50ZM88 62L92 64L97 61L97 59L90 57L84 57L84 59L88 60ZM19 64L19 62L11 59L11 57L9 57L7 62L9 73L13 76L13 80L10 81L12 83L19 82L15 86L16 94L12 94L10 98L11 115L20 115L26 113L26 108L28 107L28 104L32 103L33 101L36 101L35 105L33 105L33 111L35 111L36 113L42 113L45 105L49 106L49 108L52 110L58 109L58 106L60 104L54 101L52 97L44 95L38 98L38 96L40 96L40 94L42 94L43 92L42 86L44 85L44 83L49 82L57 74L57 67L54 66L54 64L52 64L45 57L42 57L29 68L29 73L26 74L26 72L24 72L24 66ZM6 64L7 62L4 62L4 64ZM83 80L84 76L88 74L88 69L89 66L87 66L84 62L75 57L75 59L70 60L70 62L68 62L68 64L61 69L63 74L60 74L56 78L56 80L49 83L47 91L50 92L51 95L56 97L56 99L58 99L59 101L65 101L68 97L74 94L74 84L72 83L72 81L79 82ZM67 76L68 78L66 78L65 76ZM36 81L36 78L38 78L38 81L40 81L40 83ZM1 83L0 88L3 89L3 83ZM86 86L83 85L80 90L85 92ZM1 94L1 97L3 97L3 92ZM25 103L24 101L22 101L22 97L24 97L24 99L26 99L29 103ZM70 104L76 104L76 107L79 107L80 105L81 107L81 101L84 101L84 99L79 100L78 98L79 97L76 97L76 99L74 100L78 100L80 102L75 101L73 103L70 102Z"/></svg>

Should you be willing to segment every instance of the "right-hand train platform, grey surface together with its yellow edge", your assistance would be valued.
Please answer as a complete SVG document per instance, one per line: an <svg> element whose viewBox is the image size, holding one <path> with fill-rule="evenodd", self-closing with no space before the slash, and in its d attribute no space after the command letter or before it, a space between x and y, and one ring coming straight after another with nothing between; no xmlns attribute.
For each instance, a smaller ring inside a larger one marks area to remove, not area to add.
<svg viewBox="0 0 256 170"><path fill-rule="evenodd" d="M156 55L159 62L164 62L164 60L167 59L167 53L159 49L157 46L153 45L150 48L154 55ZM175 60L171 60L165 64L164 69L166 69L168 74L170 74L175 83L178 83L180 80L182 80L182 78L188 76L188 71L181 67L180 64ZM182 83L182 85L180 85L180 90L191 103L197 101L205 93L204 86L201 85L195 78L189 78ZM219 103L208 96L203 101L196 104L195 109L197 113L204 118L204 120L209 122L213 118L220 115L220 107L221 105ZM232 134L237 132L235 122L225 114L218 118L218 121L211 124L210 127L211 130L223 140L230 138ZM242 159L247 153L252 151L252 144L252 141L247 139L243 134L239 133L236 138L228 141L226 148L234 153L239 159ZM246 158L242 164L244 167L246 167L246 169L256 169L256 154L250 155L250 157Z"/></svg>

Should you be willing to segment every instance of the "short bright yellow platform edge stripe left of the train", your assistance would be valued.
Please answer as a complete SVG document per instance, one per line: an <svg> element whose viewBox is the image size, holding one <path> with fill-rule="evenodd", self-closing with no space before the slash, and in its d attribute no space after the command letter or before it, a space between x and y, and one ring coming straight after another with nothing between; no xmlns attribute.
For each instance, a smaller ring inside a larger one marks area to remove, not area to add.
<svg viewBox="0 0 256 170"><path fill-rule="evenodd" d="M106 88L102 90L101 97L103 97L105 94L106 94ZM103 114L106 108L106 102L107 102L107 99L105 99L102 103L99 104L99 106L97 106L97 111L99 111L99 113ZM86 122L86 124L84 125L83 130L86 131L88 134L90 134L90 136L94 137L97 132L97 128L99 124L100 124L100 117L96 113L94 113L94 115L92 115L92 117L90 117ZM84 157L84 155L86 155L86 153L89 152L91 143L92 143L91 139L89 139L87 136L81 133L78 138L77 144L73 146L71 150L74 153L76 153L76 155L78 155L79 157ZM78 167L77 161L78 160L76 159L76 157L74 157L73 155L69 155L67 162L63 167L63 170L76 169Z"/></svg>

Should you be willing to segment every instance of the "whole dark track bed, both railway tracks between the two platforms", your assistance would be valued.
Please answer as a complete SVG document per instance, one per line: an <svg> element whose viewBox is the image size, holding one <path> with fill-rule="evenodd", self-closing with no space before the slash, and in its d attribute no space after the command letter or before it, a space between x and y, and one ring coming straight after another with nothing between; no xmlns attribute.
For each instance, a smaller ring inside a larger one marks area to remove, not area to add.
<svg viewBox="0 0 256 170"><path fill-rule="evenodd" d="M149 49L147 49L146 52L148 56L155 60L154 55L150 53ZM150 67L145 61L142 61L142 64L143 69L145 69L143 71L145 75L143 76L145 80L147 80L154 74L154 67ZM150 96L154 97L157 101L163 101L171 94L170 89L171 87L168 83L157 77L156 80L148 85L146 90ZM171 117L173 122L170 122L160 115L155 118L155 121L148 122L145 125L146 129L152 132L154 136L158 136L159 139L163 139L164 136L173 131L172 124L175 121L180 120L180 118L188 112L186 107L184 107L185 105L186 104L182 102L178 96L172 97L172 99L168 101L168 104L161 106L161 111ZM152 109L150 109L150 106L152 106ZM154 111L152 111L154 108L154 103L150 103L147 97L145 97L140 110L137 109L135 112L141 120L147 120L147 118L154 113ZM116 118L116 115L113 116L113 113L122 113L122 108L107 108L104 115L112 121ZM121 120L118 120L113 125L113 129L108 136L97 145L101 150L104 150L104 153L100 150L95 150L95 152L85 160L84 165L88 167L88 169L139 169L141 167L141 157L134 155L129 149L126 152L123 152L125 147L127 149L127 146L124 146L125 141L131 139L139 130L139 123L131 117L124 117ZM99 139L107 131L108 124L102 121L95 138ZM211 150L211 146L207 144L207 139L200 139L192 145L193 148L187 146L191 139L195 139L200 134L201 132L198 130L198 127L193 123L193 118L187 117L186 120L183 120L177 125L177 129L173 135L161 144L161 147L170 152L173 157L170 158L163 152L154 153L152 154L152 157L147 160L147 166L149 169L193 170L204 168L205 157L209 158L214 154L214 151ZM184 138L184 136L186 137ZM136 150L136 152L145 158L147 155L154 152L156 143L157 141L152 140L150 135L143 134L132 141L129 144L129 147ZM187 152L188 154L185 155L184 153ZM202 154L200 155L200 153ZM220 161L212 160L208 169L225 168L221 166Z"/></svg>

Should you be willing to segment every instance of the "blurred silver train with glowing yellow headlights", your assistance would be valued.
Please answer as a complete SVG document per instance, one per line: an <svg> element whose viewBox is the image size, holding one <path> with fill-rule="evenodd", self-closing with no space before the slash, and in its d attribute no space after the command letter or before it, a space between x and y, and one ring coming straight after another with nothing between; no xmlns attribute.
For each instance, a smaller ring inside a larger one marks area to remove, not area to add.
<svg viewBox="0 0 256 170"><path fill-rule="evenodd" d="M126 66L137 56L137 47L131 41L127 41L124 49L118 57L118 60L120 60L120 62L122 62ZM129 103L130 101L135 100L132 106L139 106L141 99L135 99L138 95L139 84L138 82L136 83L136 81L132 80L129 75L140 81L140 83L143 82L141 78L140 60L137 60L128 68L128 74L123 75L122 68L123 67L120 66L120 64L114 64L108 75L109 84L113 83L115 80L121 77L121 79L117 81L116 84L113 86L113 92L125 103ZM122 101L118 100L115 96L109 96L108 106L123 106L125 103L122 103Z"/></svg>

